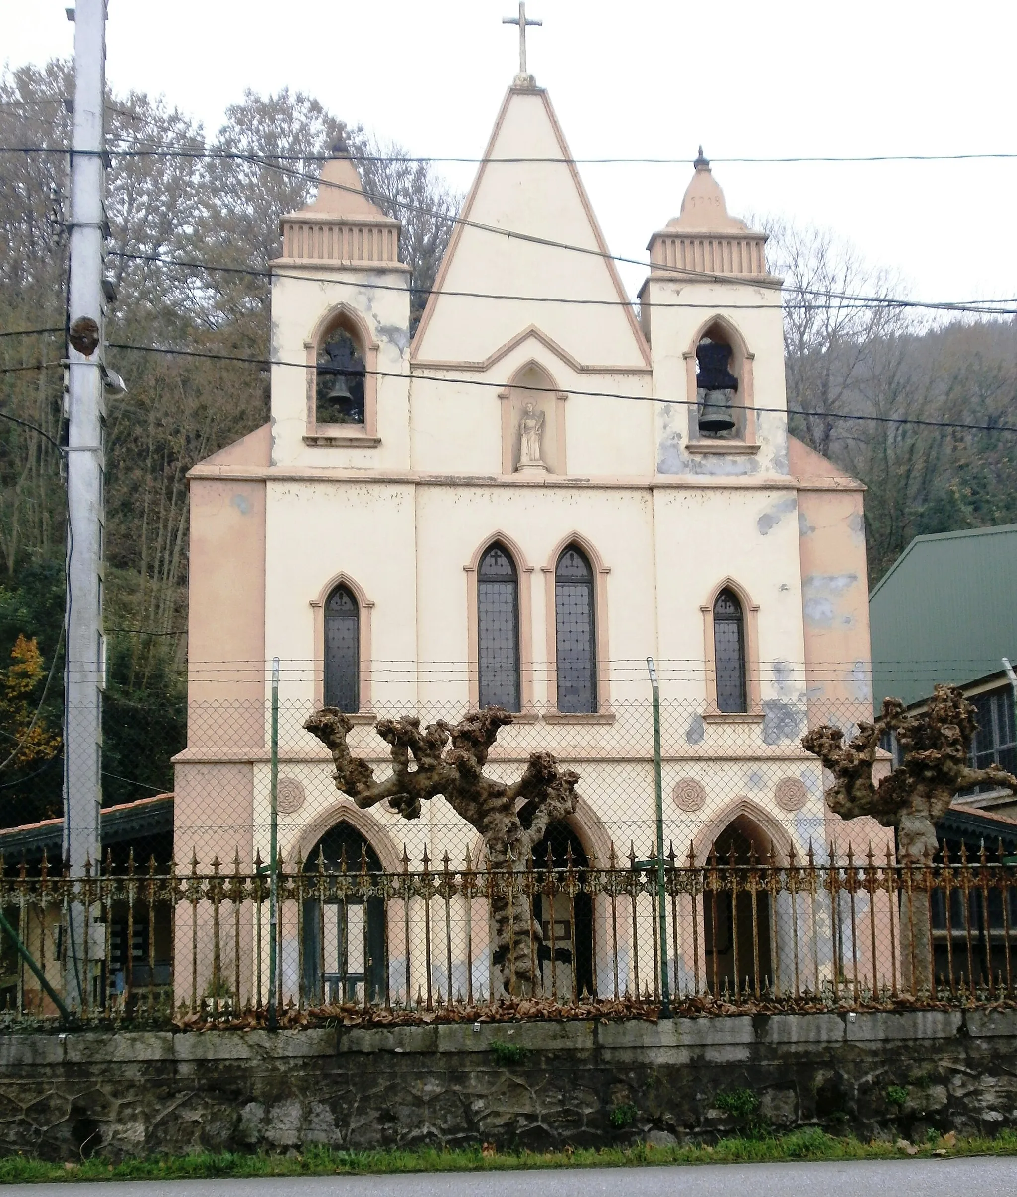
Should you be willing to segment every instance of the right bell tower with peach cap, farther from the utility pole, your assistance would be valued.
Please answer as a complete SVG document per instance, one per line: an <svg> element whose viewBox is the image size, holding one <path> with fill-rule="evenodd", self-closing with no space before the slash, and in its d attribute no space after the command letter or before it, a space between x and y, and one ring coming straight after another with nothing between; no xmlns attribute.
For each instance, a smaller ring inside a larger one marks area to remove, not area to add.
<svg viewBox="0 0 1017 1197"><path fill-rule="evenodd" d="M780 279L766 233L729 214L702 146L693 165L680 214L650 238L639 296L664 400L657 470L787 473Z"/></svg>

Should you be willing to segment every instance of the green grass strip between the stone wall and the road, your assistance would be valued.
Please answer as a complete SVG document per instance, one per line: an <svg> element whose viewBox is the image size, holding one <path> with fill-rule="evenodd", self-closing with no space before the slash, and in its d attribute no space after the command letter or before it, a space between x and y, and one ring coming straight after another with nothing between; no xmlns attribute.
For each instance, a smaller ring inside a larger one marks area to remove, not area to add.
<svg viewBox="0 0 1017 1197"><path fill-rule="evenodd" d="M565 1148L561 1152L499 1152L477 1146L439 1150L386 1148L343 1152L309 1147L285 1155L237 1152L164 1155L108 1163L102 1157L80 1163L50 1163L26 1155L0 1159L0 1184L53 1183L56 1180L182 1180L213 1177L315 1177L396 1172L504 1172L526 1168L639 1167L648 1163L762 1163L786 1160L894 1160L937 1156L1017 1155L1017 1132L995 1138L930 1140L922 1144L902 1141L827 1135L818 1129L757 1138L721 1138L713 1146Z"/></svg>

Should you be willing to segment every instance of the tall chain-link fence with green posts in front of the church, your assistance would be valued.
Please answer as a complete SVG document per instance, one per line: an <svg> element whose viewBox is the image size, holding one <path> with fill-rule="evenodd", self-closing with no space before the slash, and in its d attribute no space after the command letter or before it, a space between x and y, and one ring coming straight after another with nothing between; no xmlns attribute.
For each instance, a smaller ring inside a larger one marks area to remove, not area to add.
<svg viewBox="0 0 1017 1197"><path fill-rule="evenodd" d="M281 704L273 737L269 703L191 705L172 792L104 808L83 875L51 863L59 821L0 833L6 1017L61 1003L230 1026L1015 997L1004 821L906 865L891 831L827 810L800 736L820 722L849 735L867 704L664 701L659 810L651 703L516 716L483 774L511 785L549 752L578 782L574 809L507 853L444 797L358 806L304 725L312 711ZM447 757L465 713L394 704L351 716L346 742L384 783L414 768L394 761L385 719L431 725Z"/></svg>

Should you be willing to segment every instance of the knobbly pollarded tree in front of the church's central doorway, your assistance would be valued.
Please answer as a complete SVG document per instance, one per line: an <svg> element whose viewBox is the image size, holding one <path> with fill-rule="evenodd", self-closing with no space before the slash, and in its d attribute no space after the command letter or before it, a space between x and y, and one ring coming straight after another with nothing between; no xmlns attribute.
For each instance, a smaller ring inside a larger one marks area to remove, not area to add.
<svg viewBox="0 0 1017 1197"><path fill-rule="evenodd" d="M327 706L304 724L335 761L335 785L361 809L388 802L403 819L419 819L421 802L441 795L483 837L492 865L504 870L492 894L494 962L505 992L514 980L519 994L534 992L531 940L541 931L516 874L548 826L576 810L579 774L561 770L547 752L530 754L523 776L511 783L486 777L483 767L501 728L512 716L500 706L471 711L455 725L439 719L421 729L420 719L379 719L376 730L390 746L391 776L374 779L367 761L349 752L353 727L342 711Z"/></svg>

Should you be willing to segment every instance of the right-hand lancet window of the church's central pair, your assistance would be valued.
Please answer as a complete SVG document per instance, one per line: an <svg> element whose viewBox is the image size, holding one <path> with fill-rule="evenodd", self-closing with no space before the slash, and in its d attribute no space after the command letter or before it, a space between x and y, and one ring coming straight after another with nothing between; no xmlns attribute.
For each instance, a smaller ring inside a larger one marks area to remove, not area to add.
<svg viewBox="0 0 1017 1197"><path fill-rule="evenodd" d="M565 549L554 571L554 616L558 709L592 713L597 710L593 571L574 547Z"/></svg>

